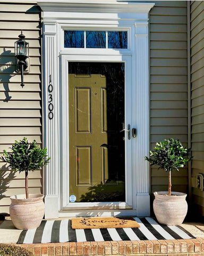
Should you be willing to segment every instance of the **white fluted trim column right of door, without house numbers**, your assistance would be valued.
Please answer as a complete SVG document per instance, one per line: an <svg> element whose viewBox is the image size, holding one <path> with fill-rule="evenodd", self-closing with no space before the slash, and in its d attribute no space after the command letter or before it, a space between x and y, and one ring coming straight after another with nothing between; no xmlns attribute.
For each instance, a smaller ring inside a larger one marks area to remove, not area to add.
<svg viewBox="0 0 204 256"><path fill-rule="evenodd" d="M150 215L149 163L149 47L148 21L135 22L135 79L137 140L135 141L136 210L137 216Z"/></svg>

